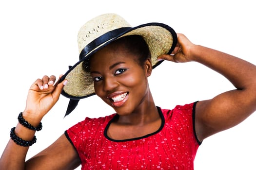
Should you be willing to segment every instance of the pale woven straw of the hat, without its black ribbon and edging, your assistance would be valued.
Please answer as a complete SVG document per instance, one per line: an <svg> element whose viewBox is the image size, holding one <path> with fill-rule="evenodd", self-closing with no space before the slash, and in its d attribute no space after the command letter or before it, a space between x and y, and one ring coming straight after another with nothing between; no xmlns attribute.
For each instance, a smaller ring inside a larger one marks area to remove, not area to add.
<svg viewBox="0 0 256 170"><path fill-rule="evenodd" d="M93 18L85 23L79 30L79 52L102 34L122 27L131 26L122 17L116 14L104 14ZM168 53L173 45L173 36L170 31L158 25L138 27L120 37L127 35L141 35L145 39L151 52L153 66L158 63L157 57L161 54ZM102 43L100 46L95 47L94 50L99 49L106 43L108 42ZM89 54L90 53L88 53L87 56ZM64 86L63 90L70 98L85 98L95 93L94 83L90 73L85 72L82 68L82 62L79 62L80 63L75 68L69 70L70 72L65 77L68 83Z"/></svg>

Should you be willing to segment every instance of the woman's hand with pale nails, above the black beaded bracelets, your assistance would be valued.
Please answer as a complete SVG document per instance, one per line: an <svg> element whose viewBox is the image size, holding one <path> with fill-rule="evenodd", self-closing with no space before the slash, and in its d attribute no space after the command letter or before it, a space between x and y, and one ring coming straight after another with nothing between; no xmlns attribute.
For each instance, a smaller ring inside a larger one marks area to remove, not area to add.
<svg viewBox="0 0 256 170"><path fill-rule="evenodd" d="M62 75L59 76L59 79ZM60 93L67 83L64 80L61 83L55 83L55 76L43 76L37 79L30 87L26 108L23 111L23 117L31 124L37 125L43 116L54 106L59 100Z"/></svg>

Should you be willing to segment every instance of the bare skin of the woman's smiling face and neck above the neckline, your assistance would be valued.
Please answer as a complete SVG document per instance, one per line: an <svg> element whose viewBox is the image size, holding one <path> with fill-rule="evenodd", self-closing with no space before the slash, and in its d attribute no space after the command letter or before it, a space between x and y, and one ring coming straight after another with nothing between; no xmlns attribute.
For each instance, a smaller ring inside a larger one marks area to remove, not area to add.
<svg viewBox="0 0 256 170"><path fill-rule="evenodd" d="M147 80L152 72L151 61L147 59L140 66L138 56L124 47L114 47L111 44L98 51L90 61L96 94L119 115L110 125L108 136L129 139L153 133L159 129L161 119ZM111 99L125 93L125 102L117 105Z"/></svg>

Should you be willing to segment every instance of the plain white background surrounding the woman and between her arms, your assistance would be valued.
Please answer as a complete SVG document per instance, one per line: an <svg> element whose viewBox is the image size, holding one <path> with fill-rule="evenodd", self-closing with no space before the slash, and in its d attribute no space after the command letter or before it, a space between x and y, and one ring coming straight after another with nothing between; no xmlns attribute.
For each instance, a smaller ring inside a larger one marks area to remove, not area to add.
<svg viewBox="0 0 256 170"><path fill-rule="evenodd" d="M148 22L170 25L192 42L256 64L256 10L253 0L1 0L0 1L0 153L25 107L30 85L43 75L64 74L79 58L77 34L92 17L117 13L132 26ZM242 68L241 68L242 69ZM234 87L220 74L197 63L163 62L149 78L158 106L214 97ZM79 102L65 119L63 96L42 120L27 158L54 142L85 117L113 113L98 97ZM205 139L195 170L255 170L256 115Z"/></svg>

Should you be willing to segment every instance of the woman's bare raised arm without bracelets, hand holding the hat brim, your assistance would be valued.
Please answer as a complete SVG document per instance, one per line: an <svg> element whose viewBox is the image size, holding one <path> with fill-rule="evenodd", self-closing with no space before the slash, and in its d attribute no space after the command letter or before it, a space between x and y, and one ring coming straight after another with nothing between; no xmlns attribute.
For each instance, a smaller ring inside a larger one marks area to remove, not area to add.
<svg viewBox="0 0 256 170"><path fill-rule="evenodd" d="M236 126L255 112L255 65L224 52L195 45L183 34L178 34L174 54L158 58L179 63L201 63L222 74L236 87L235 90L197 103L195 128L200 141Z"/></svg>

